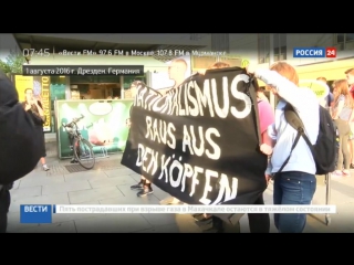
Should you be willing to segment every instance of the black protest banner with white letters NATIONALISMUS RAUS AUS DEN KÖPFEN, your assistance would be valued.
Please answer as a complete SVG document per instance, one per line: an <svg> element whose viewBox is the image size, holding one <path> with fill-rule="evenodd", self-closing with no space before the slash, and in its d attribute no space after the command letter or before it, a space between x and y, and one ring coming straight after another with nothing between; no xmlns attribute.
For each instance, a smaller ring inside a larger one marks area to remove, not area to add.
<svg viewBox="0 0 354 265"><path fill-rule="evenodd" d="M266 190L256 93L243 68L194 75L165 96L136 85L122 165L189 204L252 204Z"/></svg>

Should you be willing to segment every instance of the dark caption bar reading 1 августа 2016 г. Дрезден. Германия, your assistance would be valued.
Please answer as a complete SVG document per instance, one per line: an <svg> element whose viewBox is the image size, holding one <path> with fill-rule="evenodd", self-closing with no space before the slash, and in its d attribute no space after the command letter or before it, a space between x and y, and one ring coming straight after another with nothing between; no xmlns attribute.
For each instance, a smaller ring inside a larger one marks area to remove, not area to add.
<svg viewBox="0 0 354 265"><path fill-rule="evenodd" d="M23 65L22 75L143 75L144 65Z"/></svg>

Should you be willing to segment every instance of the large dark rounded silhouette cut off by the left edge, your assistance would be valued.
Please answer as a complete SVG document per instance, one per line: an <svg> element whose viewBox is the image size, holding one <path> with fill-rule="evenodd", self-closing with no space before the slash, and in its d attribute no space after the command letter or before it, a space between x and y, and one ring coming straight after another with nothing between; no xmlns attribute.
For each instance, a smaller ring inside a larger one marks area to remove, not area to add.
<svg viewBox="0 0 354 265"><path fill-rule="evenodd" d="M12 82L0 71L0 184L11 184L34 169L43 150L40 139Z"/></svg>

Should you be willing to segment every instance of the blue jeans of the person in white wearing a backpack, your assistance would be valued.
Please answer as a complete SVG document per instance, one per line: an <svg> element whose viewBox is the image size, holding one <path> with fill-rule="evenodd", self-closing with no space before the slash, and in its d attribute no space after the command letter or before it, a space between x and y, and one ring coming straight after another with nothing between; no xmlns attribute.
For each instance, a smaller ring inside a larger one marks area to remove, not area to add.
<svg viewBox="0 0 354 265"><path fill-rule="evenodd" d="M289 171L277 173L274 178L274 204L311 204L316 190L314 174ZM306 224L305 213L275 213L275 227L280 233L302 233Z"/></svg>

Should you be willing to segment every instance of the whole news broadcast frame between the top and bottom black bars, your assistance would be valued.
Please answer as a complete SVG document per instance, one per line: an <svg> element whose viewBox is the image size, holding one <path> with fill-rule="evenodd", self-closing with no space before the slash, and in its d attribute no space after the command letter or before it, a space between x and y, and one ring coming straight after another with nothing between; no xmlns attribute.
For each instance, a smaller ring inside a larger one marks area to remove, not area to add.
<svg viewBox="0 0 354 265"><path fill-rule="evenodd" d="M353 233L354 33L1 33L0 233Z"/></svg>

